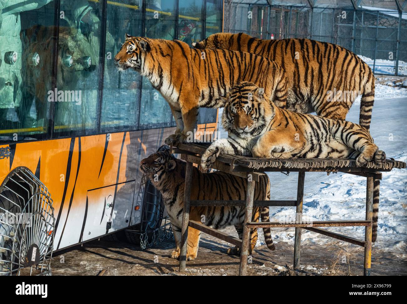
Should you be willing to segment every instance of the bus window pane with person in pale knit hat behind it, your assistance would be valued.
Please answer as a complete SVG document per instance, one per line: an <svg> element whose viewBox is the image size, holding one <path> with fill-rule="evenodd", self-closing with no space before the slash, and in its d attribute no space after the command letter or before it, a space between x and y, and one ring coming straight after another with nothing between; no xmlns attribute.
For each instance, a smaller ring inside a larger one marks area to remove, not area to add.
<svg viewBox="0 0 407 304"><path fill-rule="evenodd" d="M101 6L98 0L61 0L57 85L53 95L57 136L97 132L102 72Z"/></svg>

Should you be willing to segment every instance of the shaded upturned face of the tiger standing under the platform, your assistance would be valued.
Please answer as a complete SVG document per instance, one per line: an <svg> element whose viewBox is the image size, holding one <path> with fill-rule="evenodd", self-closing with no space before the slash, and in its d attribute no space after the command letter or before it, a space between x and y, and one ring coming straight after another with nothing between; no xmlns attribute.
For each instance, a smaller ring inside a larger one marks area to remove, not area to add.
<svg viewBox="0 0 407 304"><path fill-rule="evenodd" d="M175 166L175 157L170 154L169 150L153 153L140 161L141 171L147 174L152 182L154 177L161 177L163 174L173 171Z"/></svg>

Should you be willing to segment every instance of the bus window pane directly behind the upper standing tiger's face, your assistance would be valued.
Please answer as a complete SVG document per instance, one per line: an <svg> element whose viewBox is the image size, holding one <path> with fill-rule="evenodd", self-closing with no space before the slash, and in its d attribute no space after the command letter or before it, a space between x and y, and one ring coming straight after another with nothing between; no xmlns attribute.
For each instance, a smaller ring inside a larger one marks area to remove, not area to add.
<svg viewBox="0 0 407 304"><path fill-rule="evenodd" d="M114 64L114 55L125 41L125 33L142 35L141 5L142 0L107 2L101 132L138 128L140 74L132 69L120 72Z"/></svg>

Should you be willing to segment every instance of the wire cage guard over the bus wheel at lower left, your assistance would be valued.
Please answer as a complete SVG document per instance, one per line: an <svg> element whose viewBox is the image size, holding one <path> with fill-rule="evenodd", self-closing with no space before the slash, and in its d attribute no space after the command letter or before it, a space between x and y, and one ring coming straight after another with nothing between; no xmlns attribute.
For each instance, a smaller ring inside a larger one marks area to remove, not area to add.
<svg viewBox="0 0 407 304"><path fill-rule="evenodd" d="M50 275L54 208L45 185L18 167L0 188L0 275Z"/></svg>

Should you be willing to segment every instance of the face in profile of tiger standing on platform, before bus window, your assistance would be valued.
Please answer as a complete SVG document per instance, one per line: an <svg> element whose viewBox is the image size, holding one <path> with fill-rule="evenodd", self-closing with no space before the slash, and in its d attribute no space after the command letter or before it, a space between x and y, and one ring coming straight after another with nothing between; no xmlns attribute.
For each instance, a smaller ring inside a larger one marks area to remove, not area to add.
<svg viewBox="0 0 407 304"><path fill-rule="evenodd" d="M142 73L143 62L150 50L148 38L134 37L126 33L126 41L123 43L120 51L114 56L114 61L120 70L133 68Z"/></svg>

